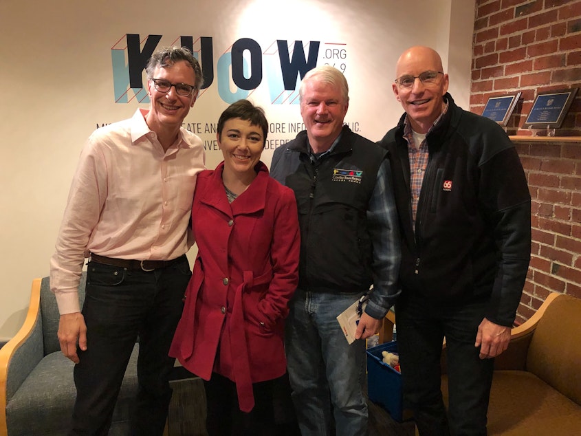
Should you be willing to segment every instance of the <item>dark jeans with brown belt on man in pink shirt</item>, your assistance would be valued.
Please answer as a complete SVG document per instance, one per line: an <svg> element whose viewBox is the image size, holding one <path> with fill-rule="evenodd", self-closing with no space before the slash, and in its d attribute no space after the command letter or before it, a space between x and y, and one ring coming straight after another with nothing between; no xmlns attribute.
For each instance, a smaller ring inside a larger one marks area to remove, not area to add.
<svg viewBox="0 0 581 436"><path fill-rule="evenodd" d="M87 351L78 350L72 435L107 435L121 382L139 336L138 397L132 435L162 435L174 359L168 357L191 272L184 256L144 272L89 262L83 316Z"/></svg>

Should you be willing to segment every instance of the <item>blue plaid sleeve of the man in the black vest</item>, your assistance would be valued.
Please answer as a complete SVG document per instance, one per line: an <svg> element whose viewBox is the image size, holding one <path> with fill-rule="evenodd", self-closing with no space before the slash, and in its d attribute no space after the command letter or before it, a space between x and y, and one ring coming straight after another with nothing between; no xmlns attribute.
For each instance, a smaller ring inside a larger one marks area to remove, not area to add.
<svg viewBox="0 0 581 436"><path fill-rule="evenodd" d="M365 312L373 318L382 319L401 292L397 289L397 272L402 255L391 169L387 158L377 171L377 182L367 212L367 225L373 243L373 292Z"/></svg>

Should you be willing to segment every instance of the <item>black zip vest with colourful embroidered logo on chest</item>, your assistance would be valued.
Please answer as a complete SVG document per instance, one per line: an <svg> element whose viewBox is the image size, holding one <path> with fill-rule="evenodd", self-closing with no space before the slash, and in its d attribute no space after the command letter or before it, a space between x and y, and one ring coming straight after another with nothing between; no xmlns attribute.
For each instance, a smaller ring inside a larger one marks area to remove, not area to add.
<svg viewBox="0 0 581 436"><path fill-rule="evenodd" d="M344 126L311 162L307 132L274 153L270 175L292 188L300 224L299 284L311 292L366 292L373 248L366 212L386 151Z"/></svg>

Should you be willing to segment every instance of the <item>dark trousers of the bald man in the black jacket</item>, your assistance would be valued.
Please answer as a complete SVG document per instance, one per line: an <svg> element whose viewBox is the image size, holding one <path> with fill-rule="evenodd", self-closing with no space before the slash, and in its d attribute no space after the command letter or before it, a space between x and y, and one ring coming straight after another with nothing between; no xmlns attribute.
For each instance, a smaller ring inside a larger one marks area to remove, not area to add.
<svg viewBox="0 0 581 436"><path fill-rule="evenodd" d="M396 304L397 349L404 402L420 435L486 435L494 359L474 347L487 303L438 304L402 294ZM449 407L441 395L440 356L446 336Z"/></svg>

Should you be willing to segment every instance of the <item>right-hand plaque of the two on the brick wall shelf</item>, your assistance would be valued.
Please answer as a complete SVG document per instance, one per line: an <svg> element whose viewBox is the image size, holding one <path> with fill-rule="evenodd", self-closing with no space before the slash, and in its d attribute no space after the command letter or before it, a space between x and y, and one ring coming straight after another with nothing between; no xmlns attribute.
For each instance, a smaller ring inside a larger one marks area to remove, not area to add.
<svg viewBox="0 0 581 436"><path fill-rule="evenodd" d="M577 94L578 88L539 93L523 128L558 129Z"/></svg>

